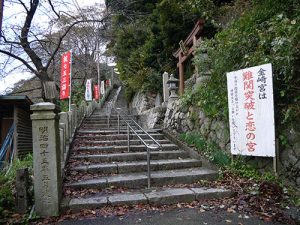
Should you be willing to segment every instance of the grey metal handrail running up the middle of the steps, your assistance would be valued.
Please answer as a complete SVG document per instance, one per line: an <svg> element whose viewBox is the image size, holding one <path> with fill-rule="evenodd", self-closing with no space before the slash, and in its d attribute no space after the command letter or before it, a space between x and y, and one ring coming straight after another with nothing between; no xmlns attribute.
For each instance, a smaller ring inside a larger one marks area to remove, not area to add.
<svg viewBox="0 0 300 225"><path fill-rule="evenodd" d="M129 118L125 119L123 115L121 115L121 108L112 108L118 114L118 134L120 134L120 117L127 124L127 137L128 137L128 152L130 151L130 130L140 139L140 141L147 148L147 178L148 178L148 188L151 188L151 169L150 169L150 150L155 150L161 148L161 144L156 141L147 131L145 131L135 120ZM133 122L143 133L145 133L154 143L155 145L148 144L144 141L144 139L137 133L137 131L131 126L130 122Z"/></svg>

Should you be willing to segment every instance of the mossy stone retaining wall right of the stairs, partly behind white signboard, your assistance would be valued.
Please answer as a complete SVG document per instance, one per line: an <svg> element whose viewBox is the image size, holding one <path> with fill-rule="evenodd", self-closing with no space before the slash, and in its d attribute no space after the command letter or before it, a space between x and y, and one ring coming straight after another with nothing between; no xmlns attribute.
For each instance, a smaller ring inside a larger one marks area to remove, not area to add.
<svg viewBox="0 0 300 225"><path fill-rule="evenodd" d="M175 133L198 132L206 140L219 145L230 153L230 132L228 124L218 119L211 119L197 107L186 108L181 100L169 103L167 106L164 129ZM285 146L280 146L278 154L279 175L300 186L300 128L294 126L283 132L287 137ZM247 163L259 168L262 172L272 170L272 158L247 157Z"/></svg>

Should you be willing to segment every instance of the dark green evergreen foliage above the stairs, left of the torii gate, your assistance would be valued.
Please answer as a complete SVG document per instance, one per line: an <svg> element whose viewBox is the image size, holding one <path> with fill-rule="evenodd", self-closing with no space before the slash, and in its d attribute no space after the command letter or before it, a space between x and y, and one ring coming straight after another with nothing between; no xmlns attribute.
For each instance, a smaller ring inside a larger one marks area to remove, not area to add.
<svg viewBox="0 0 300 225"><path fill-rule="evenodd" d="M108 0L107 5L115 13L110 48L131 93L159 91L161 74L176 72L173 53L179 41L198 19L211 18L215 10L212 0Z"/></svg>

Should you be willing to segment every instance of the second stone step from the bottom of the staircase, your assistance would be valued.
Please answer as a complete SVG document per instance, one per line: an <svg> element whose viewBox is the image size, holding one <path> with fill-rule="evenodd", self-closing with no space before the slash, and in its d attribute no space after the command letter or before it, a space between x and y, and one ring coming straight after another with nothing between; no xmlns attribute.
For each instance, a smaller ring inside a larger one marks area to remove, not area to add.
<svg viewBox="0 0 300 225"><path fill-rule="evenodd" d="M151 185L159 187L171 184L192 184L199 180L213 180L217 175L217 171L206 168L154 171L151 173ZM147 175L146 172L119 174L99 179L67 183L65 186L73 189L109 188L112 186L133 189L145 188L147 187Z"/></svg>

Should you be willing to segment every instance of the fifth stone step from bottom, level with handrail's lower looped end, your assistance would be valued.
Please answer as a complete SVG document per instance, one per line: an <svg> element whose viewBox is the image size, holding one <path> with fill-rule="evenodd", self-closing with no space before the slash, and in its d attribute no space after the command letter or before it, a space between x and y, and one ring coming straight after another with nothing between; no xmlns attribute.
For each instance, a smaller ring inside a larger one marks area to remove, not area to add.
<svg viewBox="0 0 300 225"><path fill-rule="evenodd" d="M162 144L160 150L179 150L175 144ZM127 152L128 147L125 145L121 146L95 146L95 147L79 147L77 151L99 151L99 152ZM146 151L145 145L130 145L129 152ZM155 151L155 150L151 150Z"/></svg>

